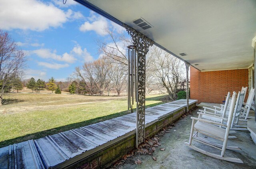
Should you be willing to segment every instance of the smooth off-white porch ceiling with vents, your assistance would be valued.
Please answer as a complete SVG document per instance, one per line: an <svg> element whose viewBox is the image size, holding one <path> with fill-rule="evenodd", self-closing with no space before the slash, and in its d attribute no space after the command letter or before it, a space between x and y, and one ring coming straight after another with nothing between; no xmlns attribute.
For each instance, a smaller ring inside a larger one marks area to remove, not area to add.
<svg viewBox="0 0 256 169"><path fill-rule="evenodd" d="M89 2L199 70L247 68L254 61L255 0L76 1ZM132 22L138 18L153 28L140 28Z"/></svg>

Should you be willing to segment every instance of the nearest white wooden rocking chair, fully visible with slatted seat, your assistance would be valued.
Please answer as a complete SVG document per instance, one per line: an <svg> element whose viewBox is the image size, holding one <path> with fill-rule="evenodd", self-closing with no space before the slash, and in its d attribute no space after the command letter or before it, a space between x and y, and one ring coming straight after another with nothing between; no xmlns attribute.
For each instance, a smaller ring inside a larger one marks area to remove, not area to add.
<svg viewBox="0 0 256 169"><path fill-rule="evenodd" d="M230 104L230 112L235 112L234 107L235 107L236 95L237 94L234 93L233 96L232 96L232 100L231 100L231 104ZM231 126L231 123L232 123L232 117L233 117L232 114L230 114L230 116L228 116L227 125L216 123L216 122L206 120L206 119L191 117L192 118L192 126L191 126L189 143L186 142L185 144L188 145L189 147L191 147L192 149L200 152L200 153L209 155L209 156L217 158L217 159L222 159L222 160L225 160L225 161L231 161L231 162L236 162L236 163L243 163L243 161L241 159L224 156L226 149L240 150L239 147L227 146L228 134L229 134L230 126ZM222 119L222 117L219 117L219 118ZM223 130L220 130L222 128L219 128L218 126L214 126L212 124L226 126L225 132L223 132ZM195 134L193 134L194 131L195 131ZM198 136L197 136L198 132L202 133L206 136L212 137L214 139L223 141L223 145L212 143L212 142L206 141L204 139L196 139L196 138L198 138ZM196 138L194 138L195 136L196 136ZM208 151L200 149L200 148L192 145L192 140L200 142L200 143L204 143L206 145L209 145L211 147L219 149L219 150L221 150L221 154L218 155L218 154L210 153Z"/></svg>

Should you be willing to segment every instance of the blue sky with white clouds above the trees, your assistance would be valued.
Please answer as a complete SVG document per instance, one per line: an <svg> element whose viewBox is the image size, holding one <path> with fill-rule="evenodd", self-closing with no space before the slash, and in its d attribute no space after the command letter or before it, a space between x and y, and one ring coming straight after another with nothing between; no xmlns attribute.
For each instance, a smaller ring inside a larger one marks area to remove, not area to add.
<svg viewBox="0 0 256 169"><path fill-rule="evenodd" d="M73 0L2 0L0 6L0 29L28 58L24 79L64 81L76 66L99 57L97 40L111 43L106 28L126 33Z"/></svg>

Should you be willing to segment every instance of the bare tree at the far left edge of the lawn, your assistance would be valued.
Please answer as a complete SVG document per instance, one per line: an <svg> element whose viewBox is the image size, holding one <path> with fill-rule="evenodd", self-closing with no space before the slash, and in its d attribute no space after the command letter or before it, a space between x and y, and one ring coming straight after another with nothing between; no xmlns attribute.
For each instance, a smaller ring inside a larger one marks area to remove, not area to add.
<svg viewBox="0 0 256 169"><path fill-rule="evenodd" d="M18 49L7 32L0 30L0 106L6 84L22 72L25 62L25 53Z"/></svg>

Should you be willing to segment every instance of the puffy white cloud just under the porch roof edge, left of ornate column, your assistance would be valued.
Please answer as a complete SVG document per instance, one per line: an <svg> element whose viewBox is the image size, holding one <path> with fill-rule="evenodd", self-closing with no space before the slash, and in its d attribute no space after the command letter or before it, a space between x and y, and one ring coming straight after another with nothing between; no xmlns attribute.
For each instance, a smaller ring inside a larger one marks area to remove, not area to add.
<svg viewBox="0 0 256 169"><path fill-rule="evenodd" d="M88 21L84 22L79 28L80 31L95 31L98 35L107 35L105 29L108 27L108 21L103 16L90 12Z"/></svg>

